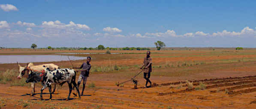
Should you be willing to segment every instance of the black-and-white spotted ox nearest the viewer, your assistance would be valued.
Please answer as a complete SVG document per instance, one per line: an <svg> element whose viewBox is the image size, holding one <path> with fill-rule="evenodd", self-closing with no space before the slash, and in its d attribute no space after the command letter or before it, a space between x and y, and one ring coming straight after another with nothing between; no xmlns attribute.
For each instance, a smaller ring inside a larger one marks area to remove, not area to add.
<svg viewBox="0 0 256 109"><path fill-rule="evenodd" d="M74 69L56 69L51 71L49 68L43 69L42 72L33 72L31 71L29 77L27 78L26 82L38 82L41 81L42 82L42 89L41 89L41 99L42 98L42 92L43 90L48 87L49 92L50 92L50 100L52 98L51 96L51 84L63 84L65 82L67 82L69 84L69 96L70 93L72 92L72 84L75 86L79 98L80 97L80 93L79 93L79 89L75 83L75 75L76 72ZM66 100L69 100L69 96Z"/></svg>

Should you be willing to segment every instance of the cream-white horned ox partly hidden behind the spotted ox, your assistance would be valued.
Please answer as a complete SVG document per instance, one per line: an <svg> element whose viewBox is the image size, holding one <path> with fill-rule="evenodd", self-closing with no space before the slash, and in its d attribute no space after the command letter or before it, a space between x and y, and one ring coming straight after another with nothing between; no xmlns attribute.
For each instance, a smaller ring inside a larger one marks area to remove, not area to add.
<svg viewBox="0 0 256 109"><path fill-rule="evenodd" d="M42 65L37 65L37 66L35 66L33 63L28 63L27 66L24 66L24 67L20 66L18 62L17 62L17 64L18 64L19 73L20 73L17 78L19 78L19 79L21 79L21 77L23 75L25 75L26 71L28 72L28 75L31 73L31 71L28 69L31 69L33 71L38 71L38 72L41 72L45 68L49 68L50 70L60 69L59 66L57 66L53 63L42 64ZM32 93L30 94L30 96L33 96L35 94L35 83L31 83L31 88L32 88ZM55 92L55 89L56 89L56 84L54 84L54 89L53 89L52 93ZM57 87L57 92L58 92L58 87Z"/></svg>

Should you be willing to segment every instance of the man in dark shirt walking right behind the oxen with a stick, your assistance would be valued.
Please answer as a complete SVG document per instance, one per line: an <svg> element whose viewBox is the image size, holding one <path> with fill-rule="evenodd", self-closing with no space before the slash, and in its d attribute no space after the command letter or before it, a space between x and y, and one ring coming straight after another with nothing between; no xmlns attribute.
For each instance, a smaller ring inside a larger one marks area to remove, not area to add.
<svg viewBox="0 0 256 109"><path fill-rule="evenodd" d="M81 80L83 80L83 90L81 92L81 96L84 95L85 84L86 84L86 81L87 81L87 77L89 77L89 71L90 71L90 68L91 68L90 60L91 60L91 58L87 57L87 62L86 63L83 63L80 67L73 67L73 69L81 69L81 70L75 70L76 72L81 71L81 74L79 75L78 83L77 83L78 88L79 88Z"/></svg>

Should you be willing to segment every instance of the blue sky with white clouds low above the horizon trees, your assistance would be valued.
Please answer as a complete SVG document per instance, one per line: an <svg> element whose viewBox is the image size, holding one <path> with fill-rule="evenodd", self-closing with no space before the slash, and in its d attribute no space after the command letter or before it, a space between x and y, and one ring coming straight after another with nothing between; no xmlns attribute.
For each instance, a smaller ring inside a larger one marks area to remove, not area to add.
<svg viewBox="0 0 256 109"><path fill-rule="evenodd" d="M256 47L255 0L1 0L0 46Z"/></svg>

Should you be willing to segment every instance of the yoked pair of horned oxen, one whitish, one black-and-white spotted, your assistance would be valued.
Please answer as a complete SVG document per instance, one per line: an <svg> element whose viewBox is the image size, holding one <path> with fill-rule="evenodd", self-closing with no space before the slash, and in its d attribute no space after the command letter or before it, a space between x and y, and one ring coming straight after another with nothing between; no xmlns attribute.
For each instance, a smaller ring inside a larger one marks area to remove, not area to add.
<svg viewBox="0 0 256 109"><path fill-rule="evenodd" d="M43 90L48 87L51 100L51 94L55 92L55 89L57 88L56 85L59 84L61 86L63 85L63 83L67 82L69 84L69 95L66 100L69 100L70 93L72 92L72 84L76 88L79 98L81 98L78 86L75 83L76 72L74 69L60 69L59 66L52 63L37 66L33 65L33 63L28 63L27 66L24 67L20 66L18 62L17 64L19 67L19 76L17 78L21 79L21 77L24 76L25 72L28 73L26 83L31 82L32 93L30 94L30 96L33 96L35 94L35 83L41 82L43 86L40 95L41 99L43 99ZM51 92L51 85L54 85L53 92Z"/></svg>

